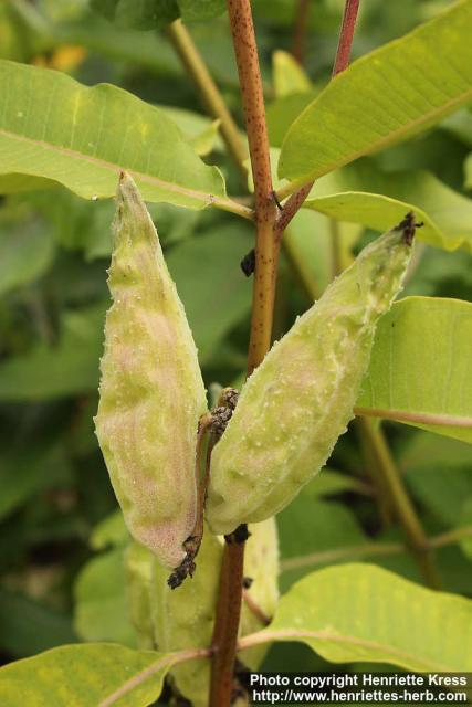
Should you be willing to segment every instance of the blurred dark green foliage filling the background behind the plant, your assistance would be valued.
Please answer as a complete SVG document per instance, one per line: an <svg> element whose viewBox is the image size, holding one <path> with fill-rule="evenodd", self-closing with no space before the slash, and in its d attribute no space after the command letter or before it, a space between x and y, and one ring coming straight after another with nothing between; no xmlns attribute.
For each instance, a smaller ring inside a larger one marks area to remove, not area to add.
<svg viewBox="0 0 472 707"><path fill-rule="evenodd" d="M354 57L400 36L448 4L364 0ZM282 53L293 45L296 6L295 0L253 2L274 148L328 81L344 0L311 2L306 74L297 74ZM111 82L165 107L195 150L223 171L229 193L244 193L218 126L204 115L165 31L141 32L132 20L111 23L86 0L4 0L0 56L59 70L86 85ZM224 14L189 28L242 125ZM471 150L472 116L465 108L418 138L375 156L370 163L387 181L395 170L421 169L466 196L466 184L472 186ZM38 182L31 190L31 181L22 179L15 193L4 194L0 203L3 663L80 640L134 644L122 563L126 532L93 432L114 204L86 202L61 187L38 189ZM212 210L165 204L149 209L186 305L207 386L211 390L213 383L240 384L251 282L239 262L252 246L250 225ZM329 228L327 217L304 211L290 234L308 242L306 257L316 295L335 274ZM339 230L345 265L374 232L352 224L340 224ZM418 251L403 294L471 300L468 252L427 245ZM287 249L281 263L275 337L307 308L310 294ZM386 431L428 532L470 524L472 447L398 424L386 425ZM400 540L399 529L378 513L366 465L358 431L352 425L336 446L329 471L280 515L282 590L317 567L352 559L349 548L373 539L390 545ZM305 564L295 559L306 555L314 557ZM356 559L364 557L421 581L406 552L369 557L366 550ZM444 547L437 557L443 588L472 597L470 544ZM323 665L327 664L303 646L281 645L272 648L264 668L322 669Z"/></svg>

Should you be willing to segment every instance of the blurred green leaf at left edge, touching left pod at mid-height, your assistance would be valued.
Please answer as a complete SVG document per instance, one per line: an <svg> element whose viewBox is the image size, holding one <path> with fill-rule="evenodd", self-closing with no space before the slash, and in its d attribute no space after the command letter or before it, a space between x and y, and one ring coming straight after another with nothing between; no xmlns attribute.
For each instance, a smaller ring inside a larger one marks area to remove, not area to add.
<svg viewBox="0 0 472 707"><path fill-rule="evenodd" d="M57 345L38 344L0 366L0 400L49 400L98 387L107 303L63 315Z"/></svg>

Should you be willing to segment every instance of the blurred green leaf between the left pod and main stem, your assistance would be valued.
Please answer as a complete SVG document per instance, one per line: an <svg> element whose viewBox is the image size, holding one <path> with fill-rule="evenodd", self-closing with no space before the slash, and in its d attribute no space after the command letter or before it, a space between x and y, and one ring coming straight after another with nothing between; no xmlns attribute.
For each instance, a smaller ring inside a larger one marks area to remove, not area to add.
<svg viewBox="0 0 472 707"><path fill-rule="evenodd" d="M251 307L251 287L239 266L251 246L245 224L224 224L213 225L169 252L167 265L186 307L201 363Z"/></svg>

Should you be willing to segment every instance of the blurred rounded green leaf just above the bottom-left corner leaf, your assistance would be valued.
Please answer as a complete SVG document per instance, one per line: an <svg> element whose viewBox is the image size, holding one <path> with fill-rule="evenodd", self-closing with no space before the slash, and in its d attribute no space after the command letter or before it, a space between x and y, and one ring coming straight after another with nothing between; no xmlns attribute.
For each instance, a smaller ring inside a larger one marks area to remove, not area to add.
<svg viewBox="0 0 472 707"><path fill-rule="evenodd" d="M81 639L136 647L125 584L123 548L85 564L74 588L74 625Z"/></svg>

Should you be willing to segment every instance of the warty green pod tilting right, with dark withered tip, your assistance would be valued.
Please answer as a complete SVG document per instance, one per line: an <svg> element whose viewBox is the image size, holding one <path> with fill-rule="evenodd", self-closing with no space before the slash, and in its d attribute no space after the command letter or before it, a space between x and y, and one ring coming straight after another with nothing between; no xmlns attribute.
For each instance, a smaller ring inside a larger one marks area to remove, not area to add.
<svg viewBox="0 0 472 707"><path fill-rule="evenodd" d="M376 325L401 289L413 233L408 214L365 247L249 378L212 454L213 532L279 513L326 462L354 416Z"/></svg>

